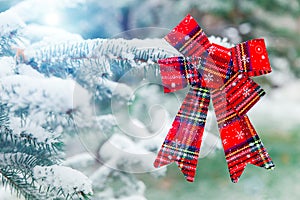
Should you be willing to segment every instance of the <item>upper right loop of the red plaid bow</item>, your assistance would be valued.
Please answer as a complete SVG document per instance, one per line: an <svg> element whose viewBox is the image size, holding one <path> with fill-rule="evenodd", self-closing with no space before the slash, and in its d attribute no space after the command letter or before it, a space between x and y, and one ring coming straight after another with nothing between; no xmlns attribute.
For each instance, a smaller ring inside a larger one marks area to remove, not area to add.
<svg viewBox="0 0 300 200"><path fill-rule="evenodd" d="M234 72L260 76L272 71L264 39L240 43L231 52Z"/></svg>

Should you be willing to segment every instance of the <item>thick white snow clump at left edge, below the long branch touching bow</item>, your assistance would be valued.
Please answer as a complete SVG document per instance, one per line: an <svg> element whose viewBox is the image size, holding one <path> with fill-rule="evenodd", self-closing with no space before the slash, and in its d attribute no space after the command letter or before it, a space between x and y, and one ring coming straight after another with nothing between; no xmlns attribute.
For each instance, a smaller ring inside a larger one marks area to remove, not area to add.
<svg viewBox="0 0 300 200"><path fill-rule="evenodd" d="M73 80L55 77L36 78L14 75L0 79L1 101L12 110L66 113L80 106L88 106L90 95Z"/></svg>

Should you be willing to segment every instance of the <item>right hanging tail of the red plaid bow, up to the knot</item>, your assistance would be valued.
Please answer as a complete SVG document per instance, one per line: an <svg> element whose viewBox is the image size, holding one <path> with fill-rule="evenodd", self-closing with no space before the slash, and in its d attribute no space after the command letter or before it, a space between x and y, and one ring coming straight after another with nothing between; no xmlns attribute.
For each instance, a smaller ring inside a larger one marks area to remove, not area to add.
<svg viewBox="0 0 300 200"><path fill-rule="evenodd" d="M212 99L232 182L237 183L247 164L273 169L274 164L246 114L239 115L222 91Z"/></svg>

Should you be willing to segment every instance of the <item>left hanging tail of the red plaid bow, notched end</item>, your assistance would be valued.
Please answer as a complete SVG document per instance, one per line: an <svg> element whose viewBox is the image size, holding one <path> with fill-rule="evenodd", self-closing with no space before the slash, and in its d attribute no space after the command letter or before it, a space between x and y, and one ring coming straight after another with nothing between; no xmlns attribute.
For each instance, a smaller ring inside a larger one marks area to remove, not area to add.
<svg viewBox="0 0 300 200"><path fill-rule="evenodd" d="M155 167L176 162L193 182L210 101L209 90L191 87L154 161Z"/></svg>

